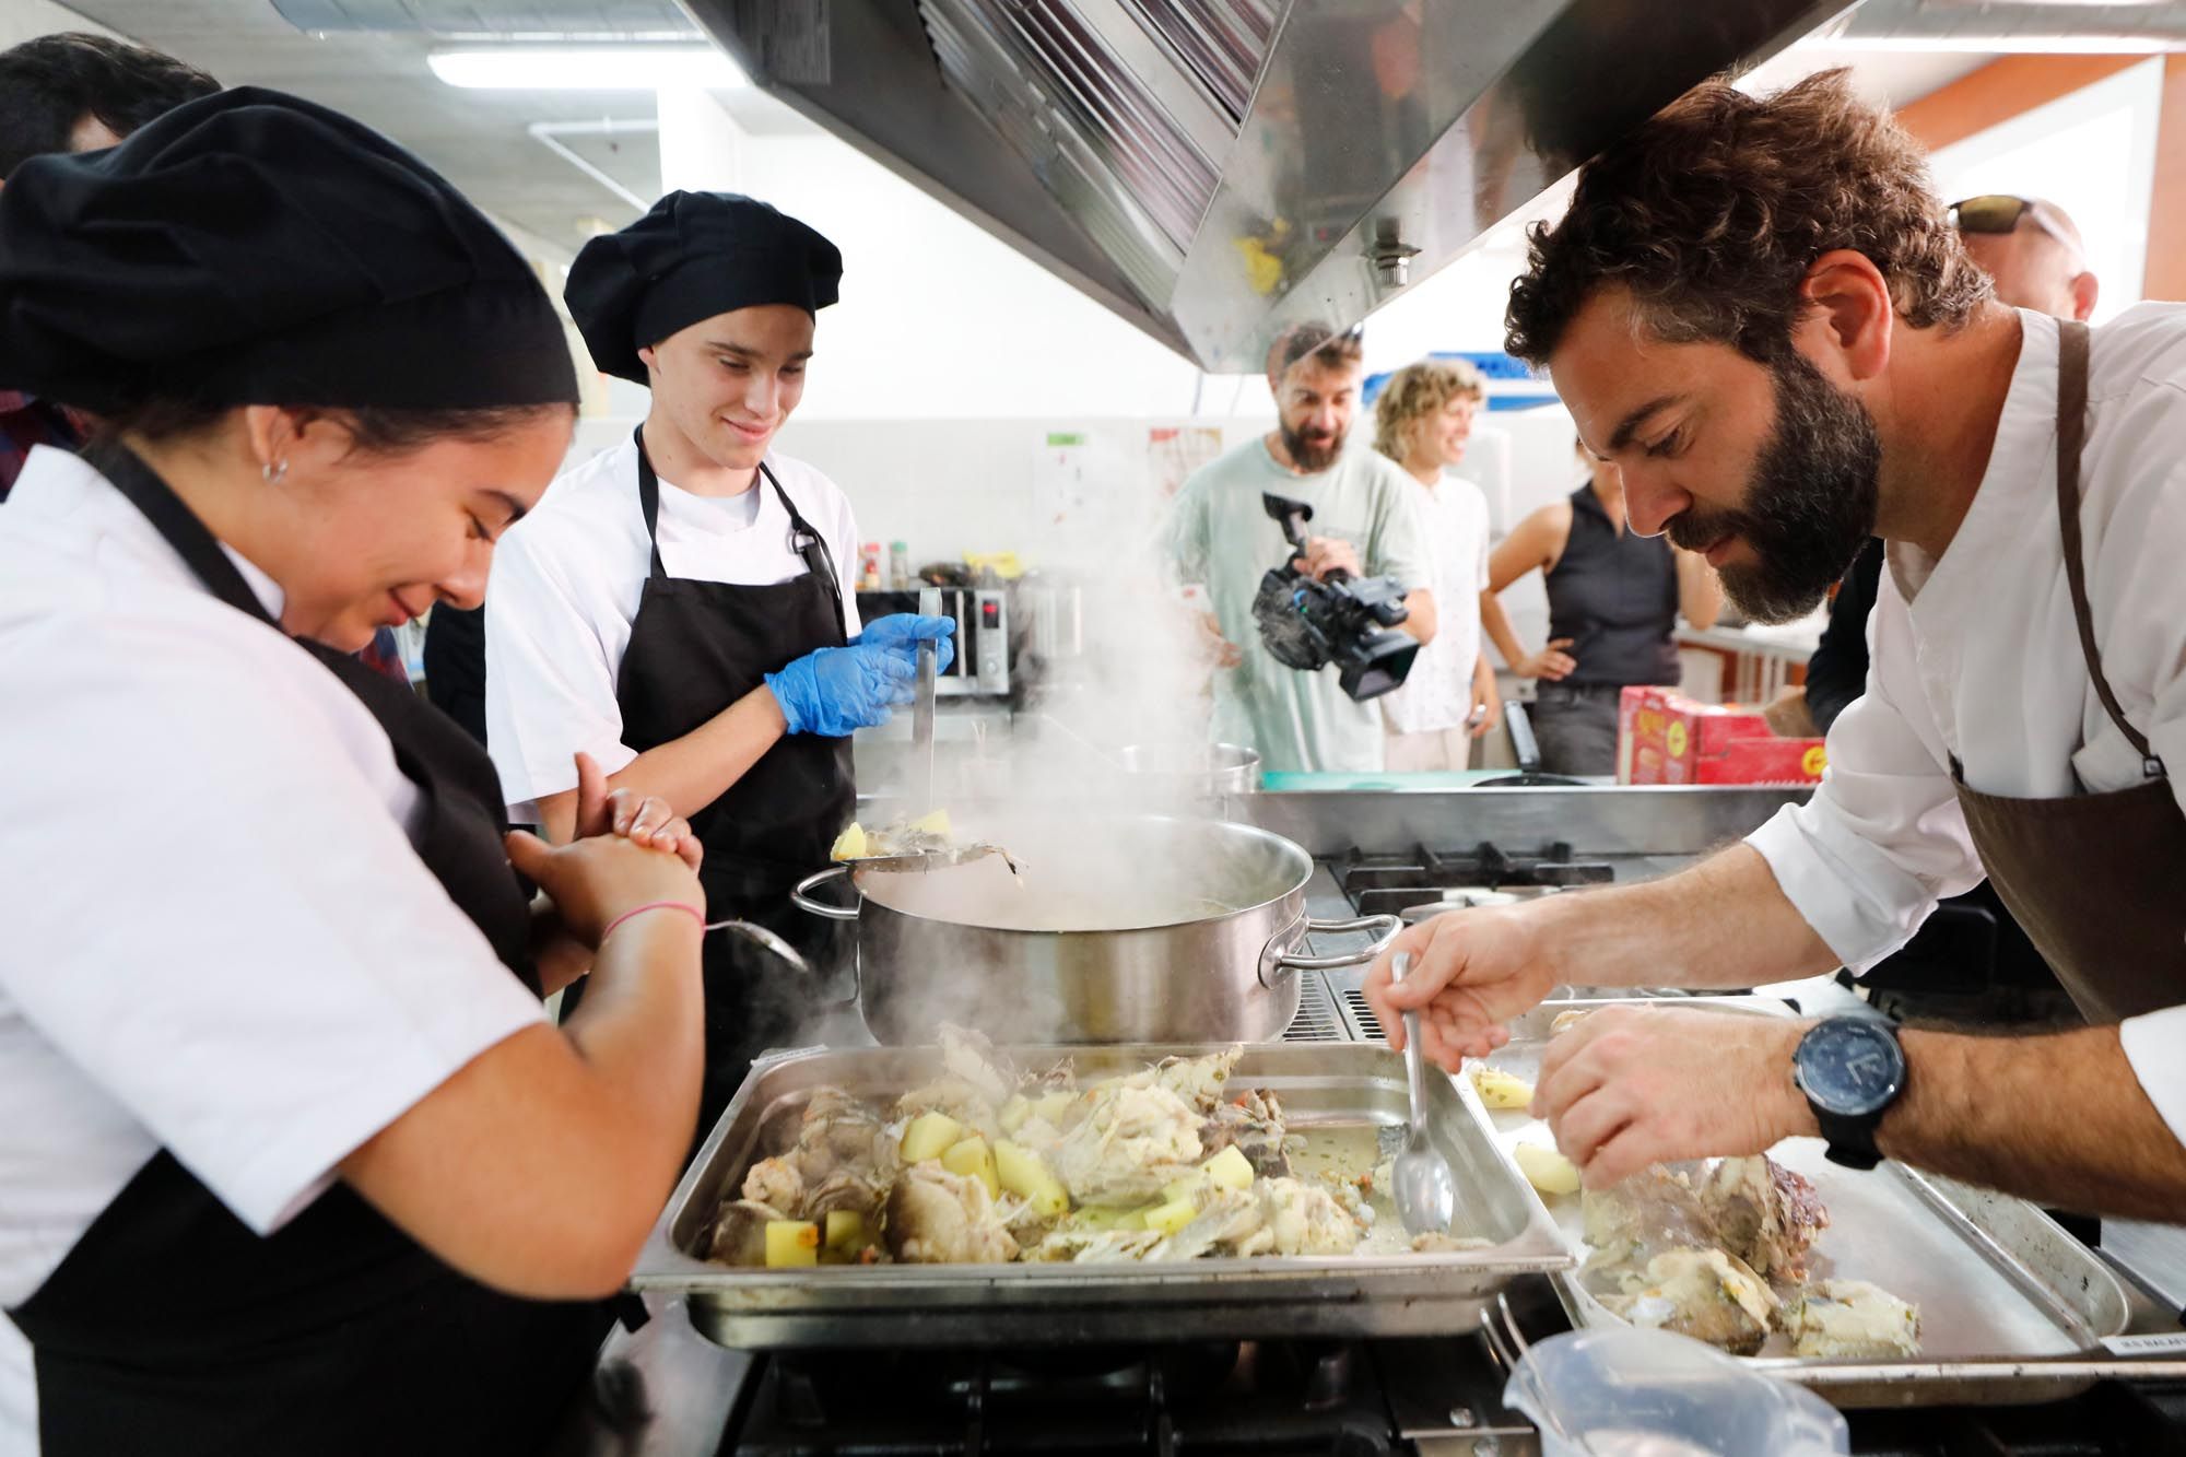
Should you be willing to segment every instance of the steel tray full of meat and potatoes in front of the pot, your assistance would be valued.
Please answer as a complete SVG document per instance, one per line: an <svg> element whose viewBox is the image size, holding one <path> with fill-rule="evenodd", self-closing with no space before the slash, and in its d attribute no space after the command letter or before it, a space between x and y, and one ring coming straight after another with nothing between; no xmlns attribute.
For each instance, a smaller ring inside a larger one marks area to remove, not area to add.
<svg viewBox="0 0 2186 1457"><path fill-rule="evenodd" d="M1222 1046L1010 1048L1023 1068L1073 1059L1082 1079ZM1452 1254L1207 1258L1178 1264L874 1264L739 1269L693 1256L724 1190L787 1144L815 1087L894 1098L940 1072L936 1048L804 1050L752 1065L654 1227L630 1284L686 1295L721 1345L855 1348L1148 1341L1471 1330L1521 1275L1572 1264L1548 1210L1495 1142L1469 1085L1430 1079L1430 1129L1458 1177L1454 1234L1493 1240ZM1274 1089L1292 1129L1408 1120L1403 1061L1366 1044L1255 1044L1235 1087Z"/></svg>

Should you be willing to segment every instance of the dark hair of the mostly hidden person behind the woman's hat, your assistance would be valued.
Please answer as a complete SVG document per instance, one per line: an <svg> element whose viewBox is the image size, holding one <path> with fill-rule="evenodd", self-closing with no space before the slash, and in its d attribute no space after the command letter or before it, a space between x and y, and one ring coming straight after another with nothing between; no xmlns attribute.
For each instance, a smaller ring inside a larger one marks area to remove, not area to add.
<svg viewBox="0 0 2186 1457"><path fill-rule="evenodd" d="M160 50L61 31L0 50L0 179L28 158L68 151L85 116L114 136L221 90L221 83Z"/></svg>

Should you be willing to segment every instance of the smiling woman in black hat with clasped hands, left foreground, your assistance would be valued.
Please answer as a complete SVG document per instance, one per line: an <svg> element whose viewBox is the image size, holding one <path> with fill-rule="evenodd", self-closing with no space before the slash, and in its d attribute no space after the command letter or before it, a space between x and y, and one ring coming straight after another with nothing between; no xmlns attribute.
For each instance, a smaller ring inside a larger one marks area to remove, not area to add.
<svg viewBox="0 0 2186 1457"><path fill-rule="evenodd" d="M697 847L597 772L590 838L505 847L345 654L477 602L562 462L551 300L232 90L9 177L0 387L109 429L0 510L0 1450L540 1450L686 1149Z"/></svg>

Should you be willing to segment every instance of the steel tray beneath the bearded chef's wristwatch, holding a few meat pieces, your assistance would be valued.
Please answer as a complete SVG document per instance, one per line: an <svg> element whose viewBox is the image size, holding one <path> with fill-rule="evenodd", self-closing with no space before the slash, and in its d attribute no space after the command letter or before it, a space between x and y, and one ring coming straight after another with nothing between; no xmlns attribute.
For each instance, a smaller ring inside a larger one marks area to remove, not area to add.
<svg viewBox="0 0 2186 1457"><path fill-rule="evenodd" d="M1484 1061L1530 1083L1561 1013L1618 1004L1635 1002L1543 1002L1517 1017L1511 1044ZM1692 998L1690 1004L1747 1015L1790 1013L1764 998ZM1489 1118L1506 1149L1552 1142L1548 1127L1526 1111ZM1786 1140L1768 1155L1812 1179L1830 1210L1830 1227L1817 1240L1821 1273L1871 1280L1917 1304L1921 1354L1889 1363L1812 1361L1788 1354L1784 1337L1773 1337L1751 1359L1758 1369L1814 1387L1841 1407L2048 1400L2094 1383L2085 1359L2103 1352L2105 1337L2125 1330L2125 1291L2101 1256L2048 1214L2024 1199L1904 1164L1854 1173L1830 1164L1814 1138ZM1585 1256L1578 1197L1548 1203L1570 1249ZM1574 1324L1618 1324L1578 1284L1576 1271L1559 1275L1556 1289Z"/></svg>

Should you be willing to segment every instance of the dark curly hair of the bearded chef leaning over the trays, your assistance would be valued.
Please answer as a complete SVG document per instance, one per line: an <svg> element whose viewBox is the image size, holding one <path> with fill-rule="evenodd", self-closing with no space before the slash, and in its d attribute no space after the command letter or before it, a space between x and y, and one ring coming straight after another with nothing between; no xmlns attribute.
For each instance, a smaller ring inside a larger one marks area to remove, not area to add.
<svg viewBox="0 0 2186 1457"><path fill-rule="evenodd" d="M1631 289L1672 343L1729 343L1775 363L1825 252L1865 254L1913 328L1959 328L1989 298L1891 116L1825 70L1768 96L1705 81L1587 162L1572 208L1528 234L1506 348L1546 363L1587 298Z"/></svg>

